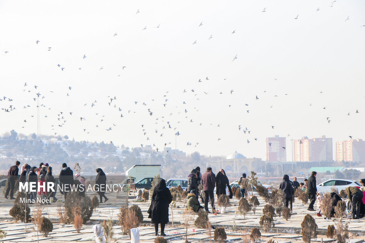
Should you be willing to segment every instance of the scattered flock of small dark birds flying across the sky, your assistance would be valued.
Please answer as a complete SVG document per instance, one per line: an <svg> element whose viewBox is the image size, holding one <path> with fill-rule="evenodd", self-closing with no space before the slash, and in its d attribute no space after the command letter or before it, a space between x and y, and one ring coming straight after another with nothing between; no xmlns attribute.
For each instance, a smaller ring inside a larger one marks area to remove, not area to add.
<svg viewBox="0 0 365 243"><path fill-rule="evenodd" d="M333 7L333 5L334 5L335 2L336 2L336 0L333 1L329 7ZM316 9L316 11L319 11L319 10L320 10L320 8L317 8ZM264 12L265 13L266 11L267 11L266 8L264 8L261 12ZM140 13L139 9L137 10L136 15L138 13ZM299 18L299 15L297 15L293 19L298 19L298 18ZM349 20L349 16L347 16L345 22L347 20ZM198 27L201 27L201 26L203 26L203 22L201 22L198 25ZM365 27L365 25L364 26L360 26L360 27ZM158 26L155 26L154 28L160 28L160 24L158 24ZM147 29L147 26L145 26L142 30L146 30L146 29ZM235 33L236 33L236 30L234 30L231 34L235 34ZM118 34L115 32L113 34L113 38L118 38L118 37L116 37L117 35ZM208 38L208 40L210 40L212 38L213 38L213 35L210 35L210 37ZM36 45L38 45L38 43L40 43L40 42L41 42L40 40L36 40L35 41ZM196 43L197 43L197 40L195 40L193 42L193 45L196 44ZM47 51L51 51L51 50L52 50L52 47L47 47ZM5 51L5 54L7 54L7 53L8 53L8 51ZM84 54L80 58L85 59L85 58L87 58L87 55ZM236 54L235 57L233 57L232 62L235 61L235 59L237 59L237 58L238 58L238 56ZM61 71L67 70L61 64L55 64L55 65L57 65L58 67L60 67ZM126 66L122 66L122 70L124 70L124 68L126 68ZM78 69L79 70L82 70L81 67L79 67ZM103 69L104 69L104 66L100 67L99 70L103 70ZM205 78L205 81L208 81L208 80L209 80L209 78L206 77ZM277 78L274 78L274 80L277 81ZM203 79L203 81L204 81L204 79ZM197 80L197 82L203 82L203 81L201 79ZM23 86L24 86L23 92L32 93L34 95L34 97L32 97L33 104L28 104L28 103L27 104L24 104L23 109L30 109L30 108L35 108L35 107L37 107L37 108L39 107L39 108L42 108L42 109L48 109L48 110L51 109L50 107L46 106L45 104L41 104L41 103L43 103L42 100L46 98L46 95L42 95L41 94L41 92L39 91L39 89L37 89L38 88L37 84L35 84L34 86L32 86L32 88L30 88L30 89L28 89L28 87L27 87L27 86L30 86L30 85L27 84L27 82L25 82ZM65 96L71 96L71 95L73 95L73 90L72 90L73 88L71 86L68 86L67 89L68 89L68 93ZM183 93L187 93L188 91L186 89L184 89L182 92ZM194 96L194 97L198 95L194 89L191 89L190 92L191 92L192 96ZM264 92L266 92L266 90ZM49 93L48 95L50 95L50 93L54 93L54 92L53 91L49 91L48 93ZM169 101L169 99L168 99L169 98L168 97L168 93L169 92L166 92L166 94L161 95L161 96L163 96L163 97L161 97L161 98L163 98L163 102L160 105L163 105L166 109L167 109L166 105L169 104L169 102L168 102ZM230 93L230 95L234 95L234 90L231 89L227 93ZM323 93L323 92L321 91L320 93ZM219 94L222 95L223 94L223 91L220 92ZM208 95L208 92L204 92L204 94L201 93L201 95ZM284 95L288 95L288 94L284 94ZM277 95L275 95L274 98L275 97L277 97ZM200 98L197 98L197 100L199 100L199 99ZM258 97L258 95L255 95L255 97L252 97L252 99L253 100L259 100L260 97ZM115 113L118 113L118 116L121 119L126 119L127 114L128 115L131 115L131 114L137 112L137 111L134 111L133 108L127 109L127 110L124 109L124 108L123 109L120 108L119 105L117 105L116 100L118 100L116 96L107 96L105 98L105 100L103 100L103 101L94 100L93 102L91 102L91 104L89 104L89 106L91 108L93 108L93 107L95 107L97 105L96 103L101 103L102 102L103 106L101 107L101 109L104 109L105 106L106 107L113 108L114 111L115 111ZM39 101L41 101L41 102L39 102ZM152 102L154 102L154 101L155 100L153 99ZM3 106L3 108L1 108L1 109L4 112L14 112L14 111L16 111L16 107L12 104L13 98L5 97L4 96L4 97L0 98L0 102L1 102L0 104ZM6 104L6 103L8 103L8 104ZM134 101L133 103L136 106L147 106L146 101L144 101L144 102L142 102L142 101ZM184 104L184 105L187 104L185 101L183 101L181 103ZM82 104L82 105L83 106L87 106L88 104L85 103L85 104ZM247 113L250 113L250 109L248 109L249 104L246 103L244 105L247 107L246 112ZM310 104L310 106L311 105L312 104ZM228 105L228 107L231 107L231 105ZM273 106L271 106L270 108L272 108L272 107ZM178 107L176 106L175 108L178 108ZM70 108L68 107L68 109L70 109ZM171 141L170 140L171 140L171 138L173 138L173 136L179 136L181 134L180 131L179 131L179 129L178 129L179 128L179 123L181 123L181 122L185 122L185 123L187 123L187 122L189 122L189 123L195 122L194 121L195 120L194 117L192 118L191 116L188 116L188 112L191 113L188 110L188 108L182 108L180 110L179 109L180 109L180 107L177 109L178 110L177 112L171 112L169 110L169 111L166 111L166 113L163 114L162 116L157 116L157 115L154 114L155 112L153 111L153 108L146 107L146 109L145 109L146 115L147 116L149 115L149 116L151 116L151 117L154 118L154 124L153 125L156 125L157 124L158 126L160 126L157 129L153 129L153 128L151 128L152 126L149 126L149 124L141 124L141 127L142 127L141 132L142 132L143 136L145 136L145 139L148 141L147 143L153 143L153 142L151 142L149 140L153 139L152 137L155 137L156 135L159 136L159 137L164 137L165 134L168 134L168 136L166 136L166 140L168 140L168 141L162 143L164 145L164 147L166 147L168 144L171 144ZM326 107L324 107L323 109L326 109ZM32 109L32 111L35 112L35 113L37 112L36 109ZM193 109L193 111L194 112L197 112L198 109L195 107ZM166 121L169 116L178 115L180 113L183 113L183 114L185 113L184 117L187 119L186 121L177 121L177 122ZM356 110L355 113L360 113L360 112L358 110ZM118 122L116 122L115 120L108 119L107 117L105 117L105 115L102 115L100 112L94 112L94 114L96 116L99 116L100 122L97 123L97 124L94 124L94 127L93 128L82 128L82 130L85 132L85 134L89 134L90 132L95 131L95 129L104 129L105 132L111 132L112 130L118 131L118 129L115 129L114 128L114 127L117 126ZM80 121L79 122L80 123L83 123L83 122L87 121L88 120L88 116L91 116L91 115L94 115L94 114L92 114L92 113L86 113L86 115L80 115L80 117L79 117ZM347 113L347 115L350 115L350 112ZM56 136L57 134L61 134L62 131L60 129L66 126L66 121L67 121L66 119L70 119L70 117L74 117L74 116L76 116L76 114L74 114L73 111L67 111L67 112L62 111L62 112L57 112L56 114L53 114L51 117L49 117L49 115L44 115L43 117L45 117L46 119L47 118L50 118L50 119L53 119L54 120L55 123L51 125L51 130L58 131L58 132L55 132L54 131L54 135ZM24 117L24 118L22 118L24 124L27 123L29 121L29 119L35 119L34 118L34 114L32 114L31 117ZM95 120L94 117L92 119ZM327 122L329 124L330 121L331 121L330 120L330 117L326 117L326 119L327 119ZM197 124L199 124L198 126L203 126L202 123L199 123L198 122ZM213 124L211 123L210 126L213 126ZM217 127L220 127L220 124L217 124L216 126ZM101 128L101 127L103 127L103 128ZM275 126L271 126L271 127L272 127L272 129L274 129ZM25 128L25 125L22 128ZM238 131L243 131L244 134L250 134L251 133L251 130L249 130L247 127L243 128L242 125L238 125ZM290 136L290 135L288 134L288 136ZM352 139L352 136L349 136L349 137ZM222 140L221 138L216 138L216 139L218 140L218 142L220 140ZM258 138L253 138L253 140L254 141L257 141ZM250 141L249 139L247 139L247 143L249 144L250 142L252 142L252 140ZM113 143L113 142L110 141L110 143ZM188 141L186 143L186 145L187 146L194 145L194 147L197 147L199 145L199 143L200 142L191 143L190 141ZM140 144L140 145L141 145L141 147L144 146L144 144ZM271 146L271 143L269 143L268 145ZM155 145L155 143L153 143L153 147L155 147L154 149L157 152L158 152L158 150L160 150L158 148L158 146ZM282 148L283 149L286 149L285 147L282 147ZM167 152L169 152L169 150L167 150Z"/></svg>

